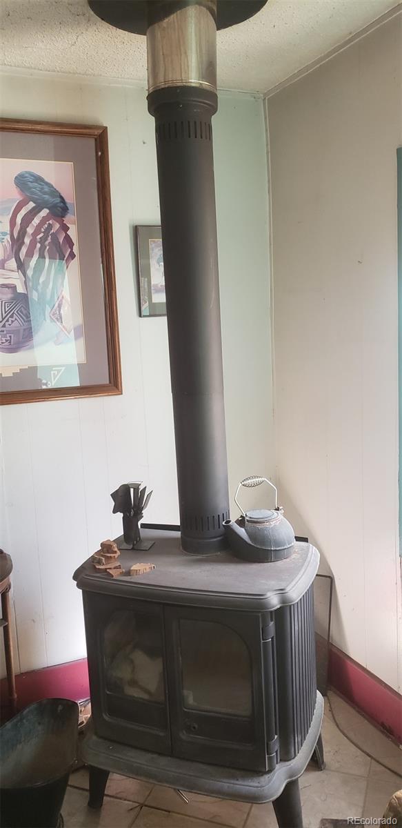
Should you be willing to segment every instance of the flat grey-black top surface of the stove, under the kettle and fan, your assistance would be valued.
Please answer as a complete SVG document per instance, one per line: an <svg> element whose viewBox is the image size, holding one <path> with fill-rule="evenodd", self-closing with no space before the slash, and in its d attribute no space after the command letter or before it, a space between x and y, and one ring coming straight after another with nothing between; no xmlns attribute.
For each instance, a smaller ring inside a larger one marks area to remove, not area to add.
<svg viewBox="0 0 402 828"><path fill-rule="evenodd" d="M181 549L179 532L141 529L141 537L146 542L154 541L154 545L146 552L121 549L119 562L127 575L112 578L98 572L89 558L74 572L79 589L161 604L261 612L294 604L318 570L319 554L309 543L296 542L294 554L285 561L252 563L241 561L230 552L188 555ZM116 542L119 547L124 546L122 537ZM130 575L130 567L136 563L151 563L155 569L144 575Z"/></svg>

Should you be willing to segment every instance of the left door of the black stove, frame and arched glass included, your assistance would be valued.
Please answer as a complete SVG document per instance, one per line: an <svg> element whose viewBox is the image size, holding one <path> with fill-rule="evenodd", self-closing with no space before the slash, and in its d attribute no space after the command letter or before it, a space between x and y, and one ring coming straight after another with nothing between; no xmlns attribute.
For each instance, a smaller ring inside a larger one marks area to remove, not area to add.
<svg viewBox="0 0 402 828"><path fill-rule="evenodd" d="M170 753L162 608L84 592L84 613L95 733Z"/></svg>

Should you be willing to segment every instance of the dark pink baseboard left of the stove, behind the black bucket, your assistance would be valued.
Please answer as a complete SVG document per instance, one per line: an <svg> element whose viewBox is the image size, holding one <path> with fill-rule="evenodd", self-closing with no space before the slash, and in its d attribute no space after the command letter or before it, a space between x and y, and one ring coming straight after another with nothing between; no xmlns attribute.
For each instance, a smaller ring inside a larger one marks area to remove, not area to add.
<svg viewBox="0 0 402 828"><path fill-rule="evenodd" d="M86 658L77 662L55 664L43 670L20 673L16 676L17 707L22 710L26 705L39 699L72 699L80 701L89 698L89 677ZM1 681L2 705L7 705L7 679Z"/></svg>

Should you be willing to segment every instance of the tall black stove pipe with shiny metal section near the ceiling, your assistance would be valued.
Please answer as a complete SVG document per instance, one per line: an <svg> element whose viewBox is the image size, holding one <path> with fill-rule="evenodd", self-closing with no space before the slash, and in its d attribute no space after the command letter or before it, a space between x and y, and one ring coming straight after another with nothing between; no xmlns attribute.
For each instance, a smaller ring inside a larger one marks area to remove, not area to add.
<svg viewBox="0 0 402 828"><path fill-rule="evenodd" d="M211 125L218 108L213 86L216 3L204 0L195 8L156 2L152 10L148 77L150 86L160 85L151 89L148 108L156 120L181 543L184 551L208 554L225 548L223 522L229 517ZM189 69L176 52L170 71L175 83L166 78L166 61L163 77L155 78L152 30L164 27L165 50L172 31L174 50L178 28L185 47L193 23L201 34L204 30L205 60L199 55ZM185 82L189 70L198 75L190 79L193 83Z"/></svg>

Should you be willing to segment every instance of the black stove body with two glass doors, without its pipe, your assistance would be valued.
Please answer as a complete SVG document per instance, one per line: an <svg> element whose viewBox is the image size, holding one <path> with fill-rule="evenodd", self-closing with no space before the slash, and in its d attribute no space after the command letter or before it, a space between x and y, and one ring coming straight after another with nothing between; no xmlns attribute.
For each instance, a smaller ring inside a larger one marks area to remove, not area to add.
<svg viewBox="0 0 402 828"><path fill-rule="evenodd" d="M143 537L155 542L141 552L155 570L132 578L139 553L123 549L127 575L109 579L90 560L74 574L93 715L84 758L188 791L278 799L308 763L323 715L317 550L296 543L290 558L261 564L184 555L172 530Z"/></svg>

